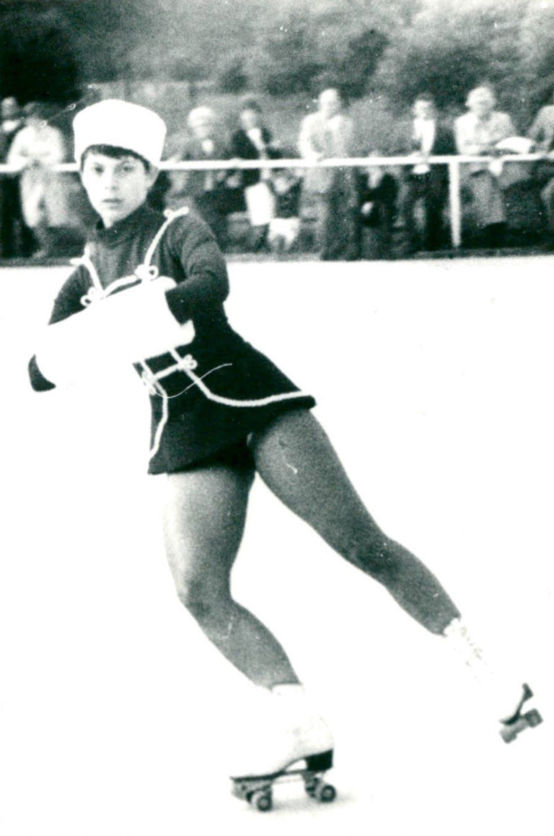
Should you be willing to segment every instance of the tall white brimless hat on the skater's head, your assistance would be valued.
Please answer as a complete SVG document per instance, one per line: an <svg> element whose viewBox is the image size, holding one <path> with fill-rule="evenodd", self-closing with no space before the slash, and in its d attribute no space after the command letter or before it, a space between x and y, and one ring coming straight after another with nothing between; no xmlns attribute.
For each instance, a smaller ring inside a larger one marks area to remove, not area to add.
<svg viewBox="0 0 554 836"><path fill-rule="evenodd" d="M134 151L153 166L162 159L166 124L153 110L120 99L90 104L73 120L75 160L90 145L114 145Z"/></svg>

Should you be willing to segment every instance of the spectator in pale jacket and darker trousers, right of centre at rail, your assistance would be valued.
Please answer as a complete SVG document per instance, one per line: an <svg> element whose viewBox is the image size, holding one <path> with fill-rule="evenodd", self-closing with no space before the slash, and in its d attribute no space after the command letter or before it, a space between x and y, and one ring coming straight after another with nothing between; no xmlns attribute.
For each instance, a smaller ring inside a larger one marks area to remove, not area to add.
<svg viewBox="0 0 554 836"><path fill-rule="evenodd" d="M300 127L299 149L305 160L321 161L354 153L354 122L343 110L341 95L326 89L316 113L305 116ZM321 259L357 258L359 216L357 176L350 167L309 168L304 193L315 206L316 238Z"/></svg>

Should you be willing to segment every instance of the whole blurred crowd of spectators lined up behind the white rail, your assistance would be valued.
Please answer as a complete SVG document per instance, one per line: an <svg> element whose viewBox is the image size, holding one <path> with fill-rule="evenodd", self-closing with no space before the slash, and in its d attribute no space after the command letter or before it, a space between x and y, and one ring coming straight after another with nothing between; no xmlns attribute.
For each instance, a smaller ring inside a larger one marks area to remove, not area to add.
<svg viewBox="0 0 554 836"><path fill-rule="evenodd" d="M259 168L161 171L150 195L156 208L190 205L212 228L223 250L232 248L233 220L242 217L242 249L253 252L315 250L321 259L392 257L450 246L449 167L433 155L486 155L461 166L464 243L477 247L554 241L554 100L539 110L526 136L496 109L488 84L469 91L454 121L422 92L394 148L409 166L318 166L322 160L382 156L360 146L356 125L337 89L325 89L317 110L299 125L297 143L285 147L270 130L255 99L244 99L228 129L207 105L187 116L187 133L171 137L170 161L259 161ZM504 163L528 151L538 161ZM391 148L387 148L391 154ZM308 166L264 167L264 161L302 158ZM71 160L64 131L48 104L20 108L3 99L0 162L0 256L52 257L79 252L90 215L77 174L55 172ZM513 237L513 235L512 235ZM518 243L521 243L518 242Z"/></svg>

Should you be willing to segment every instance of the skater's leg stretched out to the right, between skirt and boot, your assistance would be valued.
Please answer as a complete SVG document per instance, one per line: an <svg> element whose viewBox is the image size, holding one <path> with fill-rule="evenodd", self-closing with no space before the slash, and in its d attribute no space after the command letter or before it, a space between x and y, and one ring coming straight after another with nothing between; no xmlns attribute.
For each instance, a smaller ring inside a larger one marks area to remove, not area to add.
<svg viewBox="0 0 554 836"><path fill-rule="evenodd" d="M459 617L428 568L378 528L308 410L281 415L253 434L251 448L274 494L343 558L383 584L427 630L440 635Z"/></svg>

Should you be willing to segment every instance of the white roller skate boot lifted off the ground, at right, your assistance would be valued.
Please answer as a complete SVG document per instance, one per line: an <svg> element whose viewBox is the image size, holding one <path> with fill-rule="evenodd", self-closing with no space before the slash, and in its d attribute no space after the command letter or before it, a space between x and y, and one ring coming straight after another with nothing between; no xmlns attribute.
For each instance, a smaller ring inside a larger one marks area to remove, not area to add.
<svg viewBox="0 0 554 836"><path fill-rule="evenodd" d="M531 688L494 670L461 619L454 619L444 630L444 636L452 650L468 666L474 681L481 686L491 716L500 723L500 737L505 743L512 742L520 732L542 722L539 711L529 704L533 696Z"/></svg>

